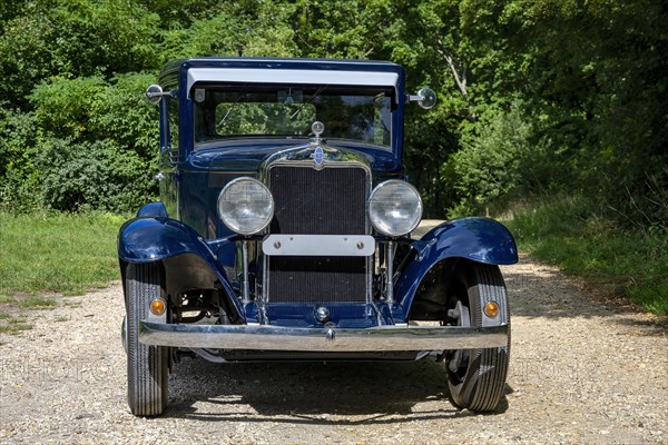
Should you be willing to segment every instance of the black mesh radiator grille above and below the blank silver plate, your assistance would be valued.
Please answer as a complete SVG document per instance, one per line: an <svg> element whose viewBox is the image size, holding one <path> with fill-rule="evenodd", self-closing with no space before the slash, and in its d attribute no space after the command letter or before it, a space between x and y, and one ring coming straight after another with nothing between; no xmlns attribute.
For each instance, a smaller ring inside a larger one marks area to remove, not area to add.
<svg viewBox="0 0 668 445"><path fill-rule="evenodd" d="M367 234L370 178L362 167L279 165L269 169L274 196L272 234ZM313 246L317 249L317 245ZM269 303L364 303L365 257L281 256L268 258Z"/></svg>

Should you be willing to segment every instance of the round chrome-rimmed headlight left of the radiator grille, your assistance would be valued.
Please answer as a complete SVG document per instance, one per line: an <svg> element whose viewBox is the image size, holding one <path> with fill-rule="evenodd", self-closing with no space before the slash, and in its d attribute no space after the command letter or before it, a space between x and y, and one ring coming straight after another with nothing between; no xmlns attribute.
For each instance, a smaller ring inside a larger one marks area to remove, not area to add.
<svg viewBox="0 0 668 445"><path fill-rule="evenodd" d="M218 215L237 234L257 234L274 217L274 198L261 181L237 178L228 182L218 195Z"/></svg>

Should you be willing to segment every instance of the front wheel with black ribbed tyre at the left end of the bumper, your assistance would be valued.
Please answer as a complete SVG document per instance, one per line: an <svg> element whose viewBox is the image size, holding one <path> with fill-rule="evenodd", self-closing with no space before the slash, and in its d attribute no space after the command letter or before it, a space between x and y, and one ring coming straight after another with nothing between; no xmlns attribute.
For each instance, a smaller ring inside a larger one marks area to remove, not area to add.
<svg viewBox="0 0 668 445"><path fill-rule="evenodd" d="M139 343L139 322L161 295L161 266L130 264L126 274L128 405L136 416L157 416L167 405L169 348Z"/></svg>

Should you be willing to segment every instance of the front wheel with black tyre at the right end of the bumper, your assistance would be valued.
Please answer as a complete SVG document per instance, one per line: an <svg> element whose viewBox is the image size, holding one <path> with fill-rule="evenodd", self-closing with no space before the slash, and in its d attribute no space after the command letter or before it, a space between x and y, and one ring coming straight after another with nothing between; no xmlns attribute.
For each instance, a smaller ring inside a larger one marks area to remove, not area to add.
<svg viewBox="0 0 668 445"><path fill-rule="evenodd" d="M466 264L456 269L452 285L449 324L483 326L482 308L487 303L495 301L500 322L510 325L505 285L498 266ZM446 367L451 402L473 412L494 411L503 395L509 357L510 332L508 345L503 347L449 352Z"/></svg>

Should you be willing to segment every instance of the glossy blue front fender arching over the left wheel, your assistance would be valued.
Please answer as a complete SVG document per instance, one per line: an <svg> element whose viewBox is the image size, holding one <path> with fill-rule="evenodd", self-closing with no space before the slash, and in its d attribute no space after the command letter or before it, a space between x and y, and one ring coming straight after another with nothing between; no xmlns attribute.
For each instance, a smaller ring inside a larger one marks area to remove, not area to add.
<svg viewBox="0 0 668 445"><path fill-rule="evenodd" d="M144 209L146 206L143 207ZM155 206L153 209L159 210L159 206ZM230 238L217 239L212 247L217 251L234 249L234 240ZM120 227L118 234L118 257L126 263L160 261L183 254L193 254L199 257L216 275L229 301L243 317L244 310L212 247L189 226L163 216L143 216L130 219Z"/></svg>

